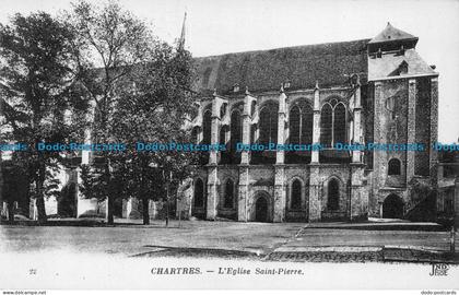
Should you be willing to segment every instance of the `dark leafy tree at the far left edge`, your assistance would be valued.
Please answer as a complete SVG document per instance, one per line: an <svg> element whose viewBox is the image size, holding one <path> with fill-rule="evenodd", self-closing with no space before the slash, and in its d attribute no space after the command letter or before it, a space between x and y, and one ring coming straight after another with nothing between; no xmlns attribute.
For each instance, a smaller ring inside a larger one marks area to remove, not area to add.
<svg viewBox="0 0 459 295"><path fill-rule="evenodd" d="M44 198L56 189L52 169L61 155L39 152L40 142L68 142L82 130L87 104L75 95L79 56L74 34L45 12L15 14L0 25L0 95L3 117L1 140L30 144L19 152L36 198L38 221L46 222ZM5 177L5 176L4 176Z"/></svg>

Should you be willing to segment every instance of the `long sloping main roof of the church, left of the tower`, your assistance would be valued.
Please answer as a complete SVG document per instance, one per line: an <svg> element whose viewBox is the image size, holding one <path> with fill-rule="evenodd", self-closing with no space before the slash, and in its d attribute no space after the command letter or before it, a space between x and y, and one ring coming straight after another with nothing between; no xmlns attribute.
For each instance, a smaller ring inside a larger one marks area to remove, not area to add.
<svg viewBox="0 0 459 295"><path fill-rule="evenodd" d="M195 87L201 93L216 88L219 94L233 93L235 84L243 92L279 90L290 81L290 90L348 84L349 74L360 73L366 81L369 39L327 43L271 50L246 51L196 58Z"/></svg>

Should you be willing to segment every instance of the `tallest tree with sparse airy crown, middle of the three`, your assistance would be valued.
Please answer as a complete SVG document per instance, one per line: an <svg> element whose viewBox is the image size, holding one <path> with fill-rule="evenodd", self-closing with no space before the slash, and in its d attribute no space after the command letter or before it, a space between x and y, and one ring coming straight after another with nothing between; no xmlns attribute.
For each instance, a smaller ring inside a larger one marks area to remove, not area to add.
<svg viewBox="0 0 459 295"><path fill-rule="evenodd" d="M68 20L84 52L79 61L84 64L82 68L87 69L82 75L81 85L94 105L92 141L114 142L115 138L110 133L116 120L114 111L121 99L117 92L121 84L130 80L133 66L150 59L154 39L146 25L121 9L116 1L108 1L101 7L79 1L73 4ZM98 192L94 194L99 200L107 200L108 224L114 222L113 206L116 198L111 191L116 179L110 157L110 153L103 154L104 164L95 172L99 176L96 181Z"/></svg>

